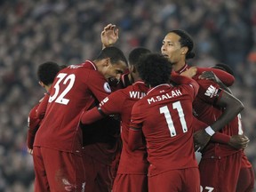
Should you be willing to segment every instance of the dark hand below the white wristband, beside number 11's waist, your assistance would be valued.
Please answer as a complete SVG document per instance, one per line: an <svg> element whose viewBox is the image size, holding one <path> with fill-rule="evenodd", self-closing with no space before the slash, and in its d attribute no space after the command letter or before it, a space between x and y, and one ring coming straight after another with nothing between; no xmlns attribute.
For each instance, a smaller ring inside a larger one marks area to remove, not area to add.
<svg viewBox="0 0 256 192"><path fill-rule="evenodd" d="M204 130L199 130L194 133L194 148L195 151L201 152L204 147L207 145L209 140L211 140L211 136L205 132Z"/></svg>

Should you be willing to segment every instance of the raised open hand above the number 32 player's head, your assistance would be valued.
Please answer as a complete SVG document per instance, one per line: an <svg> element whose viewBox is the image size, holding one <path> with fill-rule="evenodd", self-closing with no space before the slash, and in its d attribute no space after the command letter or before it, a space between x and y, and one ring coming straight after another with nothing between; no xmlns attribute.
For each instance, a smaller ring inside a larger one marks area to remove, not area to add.
<svg viewBox="0 0 256 192"><path fill-rule="evenodd" d="M116 25L112 25L111 23L108 24L108 26L106 26L101 32L100 36L103 49L105 47L116 44L118 35L118 28L116 28Z"/></svg>

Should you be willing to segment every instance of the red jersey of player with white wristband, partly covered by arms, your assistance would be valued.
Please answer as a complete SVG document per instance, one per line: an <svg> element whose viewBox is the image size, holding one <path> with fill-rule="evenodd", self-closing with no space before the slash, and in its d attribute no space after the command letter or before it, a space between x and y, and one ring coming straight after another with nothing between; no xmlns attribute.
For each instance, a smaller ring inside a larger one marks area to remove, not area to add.
<svg viewBox="0 0 256 192"><path fill-rule="evenodd" d="M193 103L193 108L196 112L196 117L205 124L213 124L222 114L222 109L214 106L216 100L219 100L222 94L220 85L210 80L197 79L196 82L200 85L196 100ZM220 132L229 136L242 134L242 124L240 115L236 116L229 124L226 124ZM211 156L229 156L236 153L237 150L227 144L210 142L203 150L203 157Z"/></svg>

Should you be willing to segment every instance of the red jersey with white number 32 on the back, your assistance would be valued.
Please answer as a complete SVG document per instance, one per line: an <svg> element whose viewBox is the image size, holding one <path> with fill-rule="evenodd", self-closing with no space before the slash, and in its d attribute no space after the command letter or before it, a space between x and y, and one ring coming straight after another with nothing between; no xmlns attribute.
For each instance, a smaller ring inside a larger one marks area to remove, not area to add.
<svg viewBox="0 0 256 192"><path fill-rule="evenodd" d="M110 92L106 79L90 60L62 69L52 84L34 146L67 152L81 150L82 130L78 125L83 109Z"/></svg>

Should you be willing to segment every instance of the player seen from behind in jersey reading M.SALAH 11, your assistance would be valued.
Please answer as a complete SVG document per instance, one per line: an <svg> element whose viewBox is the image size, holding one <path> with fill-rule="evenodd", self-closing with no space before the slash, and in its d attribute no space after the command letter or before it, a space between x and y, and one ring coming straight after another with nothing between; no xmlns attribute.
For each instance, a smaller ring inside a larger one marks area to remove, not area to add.
<svg viewBox="0 0 256 192"><path fill-rule="evenodd" d="M132 108L128 145L148 149L148 191L200 191L199 171L193 144L192 101L198 84L169 84L171 63L161 54L149 54L138 64L142 80L150 90Z"/></svg>

